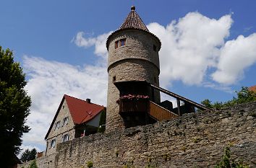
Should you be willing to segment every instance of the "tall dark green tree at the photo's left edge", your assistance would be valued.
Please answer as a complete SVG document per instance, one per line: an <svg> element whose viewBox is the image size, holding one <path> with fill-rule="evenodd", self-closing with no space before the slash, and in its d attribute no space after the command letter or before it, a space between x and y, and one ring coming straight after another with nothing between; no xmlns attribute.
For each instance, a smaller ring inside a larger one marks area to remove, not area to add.
<svg viewBox="0 0 256 168"><path fill-rule="evenodd" d="M30 128L25 125L31 105L24 87L27 84L20 63L14 62L11 50L0 46L0 161L10 167L19 154L22 135Z"/></svg>

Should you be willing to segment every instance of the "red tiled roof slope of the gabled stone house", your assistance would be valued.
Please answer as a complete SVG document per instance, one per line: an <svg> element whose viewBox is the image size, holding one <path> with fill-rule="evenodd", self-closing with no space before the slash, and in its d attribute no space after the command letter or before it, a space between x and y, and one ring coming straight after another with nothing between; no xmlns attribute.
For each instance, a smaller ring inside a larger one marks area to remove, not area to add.
<svg viewBox="0 0 256 168"><path fill-rule="evenodd" d="M64 94L74 124L86 123L104 109L101 105L86 102Z"/></svg>

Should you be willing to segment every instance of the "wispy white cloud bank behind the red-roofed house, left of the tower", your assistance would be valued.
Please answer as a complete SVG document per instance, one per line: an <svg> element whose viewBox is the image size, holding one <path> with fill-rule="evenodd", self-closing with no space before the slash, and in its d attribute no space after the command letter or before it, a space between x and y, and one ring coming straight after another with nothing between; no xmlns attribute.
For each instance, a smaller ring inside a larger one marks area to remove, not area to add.
<svg viewBox="0 0 256 168"><path fill-rule="evenodd" d="M27 125L32 129L22 138L25 145L45 145L44 137L64 94L106 105L105 66L72 66L24 56L23 68L29 78L25 89L32 99L27 118Z"/></svg>

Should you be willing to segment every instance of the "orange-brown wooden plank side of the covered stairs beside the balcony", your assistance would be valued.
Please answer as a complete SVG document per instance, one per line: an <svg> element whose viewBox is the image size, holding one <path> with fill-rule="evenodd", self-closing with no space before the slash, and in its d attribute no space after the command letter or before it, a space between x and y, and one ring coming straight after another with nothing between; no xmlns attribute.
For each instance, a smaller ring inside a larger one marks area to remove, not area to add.
<svg viewBox="0 0 256 168"><path fill-rule="evenodd" d="M155 118L158 121L168 120L171 118L178 117L178 115L176 115L174 112L171 112L171 111L169 111L151 101L149 104L149 112L148 113L149 113L149 115L151 115L153 118Z"/></svg>

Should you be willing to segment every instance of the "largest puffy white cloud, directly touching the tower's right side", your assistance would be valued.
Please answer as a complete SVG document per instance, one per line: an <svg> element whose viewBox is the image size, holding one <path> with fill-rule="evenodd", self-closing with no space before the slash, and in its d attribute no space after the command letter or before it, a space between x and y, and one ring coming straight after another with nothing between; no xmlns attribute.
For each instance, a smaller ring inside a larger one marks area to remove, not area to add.
<svg viewBox="0 0 256 168"><path fill-rule="evenodd" d="M161 85L182 80L184 84L201 84L207 69L216 66L219 47L229 36L231 15L210 19L198 12L190 12L179 22L163 27L148 25L161 39Z"/></svg>

